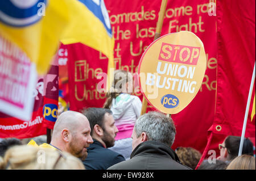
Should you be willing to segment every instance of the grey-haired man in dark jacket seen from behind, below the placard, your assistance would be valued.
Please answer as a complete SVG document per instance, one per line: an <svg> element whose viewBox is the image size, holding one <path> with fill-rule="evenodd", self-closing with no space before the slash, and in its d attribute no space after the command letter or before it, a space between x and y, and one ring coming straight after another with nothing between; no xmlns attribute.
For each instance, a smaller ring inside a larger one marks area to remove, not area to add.
<svg viewBox="0 0 256 181"><path fill-rule="evenodd" d="M108 170L188 170L179 162L174 150L176 129L171 117L160 112L148 112L134 125L133 152L130 159Z"/></svg>

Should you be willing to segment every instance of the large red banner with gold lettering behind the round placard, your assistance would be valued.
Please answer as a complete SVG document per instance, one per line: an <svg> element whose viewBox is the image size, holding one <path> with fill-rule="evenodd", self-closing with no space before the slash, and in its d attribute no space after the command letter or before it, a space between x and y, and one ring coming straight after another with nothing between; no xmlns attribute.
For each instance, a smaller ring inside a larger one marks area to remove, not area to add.
<svg viewBox="0 0 256 181"><path fill-rule="evenodd" d="M115 38L115 69L138 72L139 60L154 40L160 4L160 0L150 3L146 0L132 3L105 1ZM203 41L207 54L207 70L198 94L183 111L172 115L177 129L173 149L177 146L191 146L203 152L207 144L208 129L213 123L217 68L214 5L207 0L167 3L162 35L182 30L192 31ZM105 94L97 92L96 83L101 79L96 77L101 71L106 73L107 61L103 54L84 45L68 45L71 110L103 106ZM143 98L138 82L135 82L134 95ZM149 110L152 107L148 106L147 111Z"/></svg>

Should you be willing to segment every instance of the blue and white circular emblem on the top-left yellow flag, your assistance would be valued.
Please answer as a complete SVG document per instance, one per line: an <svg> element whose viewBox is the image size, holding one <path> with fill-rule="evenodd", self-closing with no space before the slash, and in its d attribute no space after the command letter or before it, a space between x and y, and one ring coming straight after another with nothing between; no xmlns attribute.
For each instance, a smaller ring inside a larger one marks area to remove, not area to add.
<svg viewBox="0 0 256 181"><path fill-rule="evenodd" d="M30 26L45 15L47 2L48 0L0 1L0 22L13 27Z"/></svg>

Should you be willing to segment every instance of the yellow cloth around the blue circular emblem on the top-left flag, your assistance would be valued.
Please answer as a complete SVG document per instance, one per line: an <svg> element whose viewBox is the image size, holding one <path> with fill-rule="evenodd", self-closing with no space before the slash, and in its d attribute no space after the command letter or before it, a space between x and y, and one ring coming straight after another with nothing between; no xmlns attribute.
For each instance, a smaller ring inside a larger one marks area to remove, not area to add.
<svg viewBox="0 0 256 181"><path fill-rule="evenodd" d="M0 22L0 34L12 41L35 62L44 74L58 48L60 35L68 24L68 7L63 0L48 1L46 16L27 27L12 27Z"/></svg>

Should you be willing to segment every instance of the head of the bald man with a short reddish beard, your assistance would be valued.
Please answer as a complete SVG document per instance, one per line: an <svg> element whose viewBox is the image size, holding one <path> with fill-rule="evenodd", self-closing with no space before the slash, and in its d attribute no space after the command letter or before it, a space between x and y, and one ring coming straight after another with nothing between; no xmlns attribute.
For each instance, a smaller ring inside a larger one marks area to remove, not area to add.
<svg viewBox="0 0 256 181"><path fill-rule="evenodd" d="M65 111L56 120L50 145L84 161L87 148L93 143L90 131L89 121L82 113Z"/></svg>

